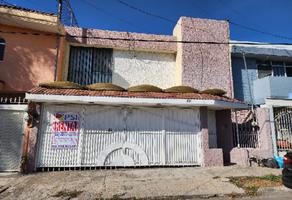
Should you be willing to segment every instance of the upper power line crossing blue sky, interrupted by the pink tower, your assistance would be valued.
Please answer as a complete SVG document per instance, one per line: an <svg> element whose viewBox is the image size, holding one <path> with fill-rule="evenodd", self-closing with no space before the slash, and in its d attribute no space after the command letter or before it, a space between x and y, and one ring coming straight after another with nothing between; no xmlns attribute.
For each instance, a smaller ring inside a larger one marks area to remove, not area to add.
<svg viewBox="0 0 292 200"><path fill-rule="evenodd" d="M116 0L117 2L119 2L120 4L124 5L124 6L127 6L128 8L131 8L133 10L136 10L140 13L143 13L145 15L149 15L149 16L152 16L152 17L156 17L158 19L161 19L161 20L164 20L166 22L171 22L171 23L176 23L175 21L169 19L169 18L166 18L166 17L163 17L161 15L158 15L158 14L154 14L154 13L151 13L151 12L148 12L148 11L145 11L141 8L138 8L138 7L135 7L129 3L126 3L122 0ZM275 33L270 33L270 32L266 32L266 31L262 31L262 30L258 30L258 29L255 29L255 28L252 28L252 27L249 27L249 26L245 26L245 25L242 25L242 24L239 24L239 23L236 23L236 22L233 22L231 20L228 20L230 24L234 25L234 26L238 26L240 28L243 28L243 29L246 29L246 30L250 30L250 31L253 31L253 32L257 32L257 33L261 33L261 34L264 34L264 35L270 35L270 36L273 36L273 37L276 37L276 38L281 38L281 39L285 39L285 40L292 40L291 37L287 37L287 36L283 36L283 35L278 35L278 34L275 34Z"/></svg>

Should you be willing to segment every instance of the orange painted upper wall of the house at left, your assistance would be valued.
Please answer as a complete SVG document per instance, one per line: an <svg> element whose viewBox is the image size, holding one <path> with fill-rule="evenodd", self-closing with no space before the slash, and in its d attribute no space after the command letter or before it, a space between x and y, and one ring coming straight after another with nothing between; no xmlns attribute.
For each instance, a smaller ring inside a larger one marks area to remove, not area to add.
<svg viewBox="0 0 292 200"><path fill-rule="evenodd" d="M0 24L2 31L36 32ZM27 91L40 82L54 81L56 36L0 33L6 41L0 61L0 91Z"/></svg>

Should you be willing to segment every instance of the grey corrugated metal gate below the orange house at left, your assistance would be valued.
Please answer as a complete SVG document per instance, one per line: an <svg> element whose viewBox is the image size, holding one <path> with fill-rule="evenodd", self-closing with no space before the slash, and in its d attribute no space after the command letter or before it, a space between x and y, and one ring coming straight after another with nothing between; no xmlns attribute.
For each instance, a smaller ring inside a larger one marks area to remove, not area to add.
<svg viewBox="0 0 292 200"><path fill-rule="evenodd" d="M23 141L23 112L0 110L0 171L19 171Z"/></svg>

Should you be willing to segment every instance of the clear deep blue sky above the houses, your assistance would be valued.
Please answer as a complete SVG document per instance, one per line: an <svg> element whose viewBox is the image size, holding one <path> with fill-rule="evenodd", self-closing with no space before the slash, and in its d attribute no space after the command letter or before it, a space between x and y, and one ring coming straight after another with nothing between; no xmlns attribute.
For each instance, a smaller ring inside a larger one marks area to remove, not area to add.
<svg viewBox="0 0 292 200"><path fill-rule="evenodd" d="M45 12L57 12L57 0L5 0ZM121 4L119 0L71 0L84 28L172 35L180 16L230 20L230 38L241 41L292 43L292 0L122 0L162 20ZM1 2L1 1L0 1ZM271 34L270 34L271 33ZM277 35L277 36L273 36Z"/></svg>

